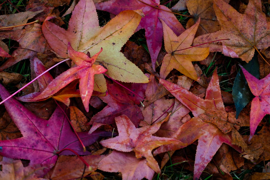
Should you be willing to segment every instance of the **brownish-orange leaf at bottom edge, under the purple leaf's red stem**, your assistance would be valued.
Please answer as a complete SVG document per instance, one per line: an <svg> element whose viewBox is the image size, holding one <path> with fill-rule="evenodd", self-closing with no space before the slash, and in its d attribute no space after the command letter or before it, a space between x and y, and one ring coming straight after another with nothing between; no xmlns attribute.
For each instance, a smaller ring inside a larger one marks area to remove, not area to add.
<svg viewBox="0 0 270 180"><path fill-rule="evenodd" d="M105 155L88 155L82 158L90 165L91 169L85 168L85 164L77 156L61 155L53 168L50 178L52 180L79 178L82 175L96 171L97 164Z"/></svg>

